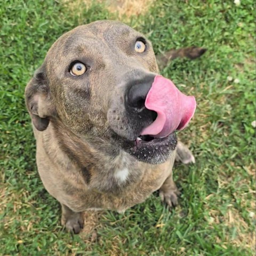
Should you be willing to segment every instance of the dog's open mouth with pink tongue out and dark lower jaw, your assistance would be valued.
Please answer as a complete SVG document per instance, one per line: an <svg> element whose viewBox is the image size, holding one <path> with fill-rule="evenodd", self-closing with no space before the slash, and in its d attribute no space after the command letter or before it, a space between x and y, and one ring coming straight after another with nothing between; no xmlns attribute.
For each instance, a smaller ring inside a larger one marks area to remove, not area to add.
<svg viewBox="0 0 256 256"><path fill-rule="evenodd" d="M134 98L138 100L133 94L128 97L131 102ZM195 113L195 98L181 93L172 81L157 75L141 105L144 106L139 109L143 110L135 113L131 121L135 120L137 125L134 127L143 126L141 129L130 129L128 135L123 134L121 147L139 161L163 163L177 145L175 130L184 129ZM146 119L142 118L142 112ZM116 132L118 134L118 130Z"/></svg>

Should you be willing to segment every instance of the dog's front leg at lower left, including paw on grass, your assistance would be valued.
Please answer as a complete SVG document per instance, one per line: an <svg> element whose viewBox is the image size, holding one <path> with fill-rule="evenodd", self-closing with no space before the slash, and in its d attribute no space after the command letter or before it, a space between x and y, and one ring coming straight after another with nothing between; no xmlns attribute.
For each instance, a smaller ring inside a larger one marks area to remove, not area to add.
<svg viewBox="0 0 256 256"><path fill-rule="evenodd" d="M61 225L65 226L71 233L78 234L84 227L83 212L73 212L64 204L61 204L61 209Z"/></svg>

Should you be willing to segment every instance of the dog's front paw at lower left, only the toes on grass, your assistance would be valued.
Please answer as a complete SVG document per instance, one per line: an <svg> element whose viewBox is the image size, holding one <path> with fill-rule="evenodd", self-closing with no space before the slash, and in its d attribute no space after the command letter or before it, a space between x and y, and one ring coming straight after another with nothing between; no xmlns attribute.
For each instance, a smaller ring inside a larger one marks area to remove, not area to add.
<svg viewBox="0 0 256 256"><path fill-rule="evenodd" d="M68 219L61 218L61 224L71 233L78 234L84 228L84 219L81 213L74 213Z"/></svg>

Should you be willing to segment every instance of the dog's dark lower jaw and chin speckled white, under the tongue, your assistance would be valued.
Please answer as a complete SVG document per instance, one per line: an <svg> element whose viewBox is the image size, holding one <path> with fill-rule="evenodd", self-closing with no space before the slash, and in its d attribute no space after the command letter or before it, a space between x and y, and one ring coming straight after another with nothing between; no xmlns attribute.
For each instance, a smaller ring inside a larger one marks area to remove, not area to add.
<svg viewBox="0 0 256 256"><path fill-rule="evenodd" d="M119 137L119 136L118 136ZM165 138L140 136L136 140L119 137L121 147L138 161L148 164L162 164L170 157L177 146L177 136L173 132Z"/></svg>

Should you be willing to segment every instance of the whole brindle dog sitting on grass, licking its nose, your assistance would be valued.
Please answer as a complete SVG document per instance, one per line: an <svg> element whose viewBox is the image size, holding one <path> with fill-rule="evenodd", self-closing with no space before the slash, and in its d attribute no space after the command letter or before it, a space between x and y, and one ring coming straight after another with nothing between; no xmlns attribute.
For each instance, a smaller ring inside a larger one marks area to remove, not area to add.
<svg viewBox="0 0 256 256"><path fill-rule="evenodd" d="M204 52L188 49L162 54L158 61L166 65L170 59L189 57L186 52L196 52L191 58ZM163 84L176 96L166 98ZM25 98L38 172L61 204L63 226L77 234L83 211L123 212L156 190L167 205L177 205L174 160L194 162L189 149L177 145L174 131L183 129L195 111L194 97L182 94L180 103L175 97L181 94L159 75L150 41L121 22L79 26L51 46L27 84ZM174 114L164 106L157 109L161 98L177 105L166 103ZM191 113L179 121L186 116L181 112L187 101L193 105L186 110ZM174 119L177 127L171 127Z"/></svg>

